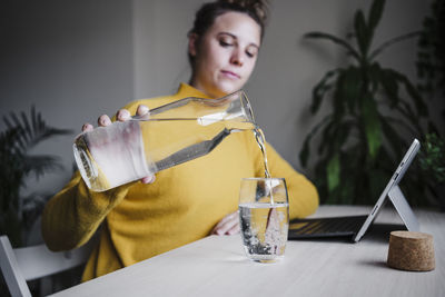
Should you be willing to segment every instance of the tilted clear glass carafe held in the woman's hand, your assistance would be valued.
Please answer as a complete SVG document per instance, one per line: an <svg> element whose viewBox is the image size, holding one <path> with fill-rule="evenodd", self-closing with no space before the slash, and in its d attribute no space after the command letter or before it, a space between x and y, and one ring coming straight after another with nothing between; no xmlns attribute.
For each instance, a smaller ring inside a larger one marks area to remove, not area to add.
<svg viewBox="0 0 445 297"><path fill-rule="evenodd" d="M75 159L87 186L103 191L205 156L230 133L254 128L244 91L189 97L80 133Z"/></svg>

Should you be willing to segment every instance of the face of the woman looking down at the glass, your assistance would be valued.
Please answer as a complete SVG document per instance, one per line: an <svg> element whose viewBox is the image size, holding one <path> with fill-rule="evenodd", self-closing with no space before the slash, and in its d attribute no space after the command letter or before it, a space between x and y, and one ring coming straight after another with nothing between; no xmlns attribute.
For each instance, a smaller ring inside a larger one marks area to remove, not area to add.
<svg viewBox="0 0 445 297"><path fill-rule="evenodd" d="M195 58L191 86L217 98L237 91L249 79L257 61L260 27L241 12L226 12L200 38L190 36Z"/></svg>

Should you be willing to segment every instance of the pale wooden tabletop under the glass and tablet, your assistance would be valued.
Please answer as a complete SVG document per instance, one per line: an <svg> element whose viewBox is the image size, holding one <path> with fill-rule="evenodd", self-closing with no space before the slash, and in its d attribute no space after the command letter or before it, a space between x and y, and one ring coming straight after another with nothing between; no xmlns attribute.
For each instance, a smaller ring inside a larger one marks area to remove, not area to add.
<svg viewBox="0 0 445 297"><path fill-rule="evenodd" d="M368 207L324 206L317 216L362 215ZM239 235L210 236L53 296L445 296L445 214L415 210L434 236L436 269L388 268L388 224L383 209L373 230L357 244L342 240L288 241L276 264L246 258Z"/></svg>

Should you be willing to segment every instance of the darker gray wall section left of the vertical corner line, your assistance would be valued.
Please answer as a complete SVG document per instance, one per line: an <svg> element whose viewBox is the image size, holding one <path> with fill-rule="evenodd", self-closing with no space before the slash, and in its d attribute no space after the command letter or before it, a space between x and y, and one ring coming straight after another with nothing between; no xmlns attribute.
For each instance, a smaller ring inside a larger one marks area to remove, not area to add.
<svg viewBox="0 0 445 297"><path fill-rule="evenodd" d="M80 131L134 98L132 7L119 0L6 1L0 10L0 116L29 113ZM0 123L1 130L3 122ZM37 154L58 155L65 171L29 179L27 191L58 191L72 172L75 135Z"/></svg>

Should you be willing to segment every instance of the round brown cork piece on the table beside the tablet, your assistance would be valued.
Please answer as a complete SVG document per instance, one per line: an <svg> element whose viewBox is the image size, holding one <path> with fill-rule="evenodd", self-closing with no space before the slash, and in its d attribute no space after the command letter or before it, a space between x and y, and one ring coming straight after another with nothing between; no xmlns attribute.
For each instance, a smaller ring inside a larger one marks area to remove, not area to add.
<svg viewBox="0 0 445 297"><path fill-rule="evenodd" d="M392 231L387 264L402 270L434 270L433 236L424 232Z"/></svg>

